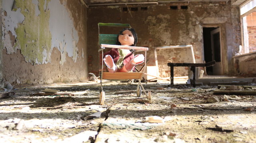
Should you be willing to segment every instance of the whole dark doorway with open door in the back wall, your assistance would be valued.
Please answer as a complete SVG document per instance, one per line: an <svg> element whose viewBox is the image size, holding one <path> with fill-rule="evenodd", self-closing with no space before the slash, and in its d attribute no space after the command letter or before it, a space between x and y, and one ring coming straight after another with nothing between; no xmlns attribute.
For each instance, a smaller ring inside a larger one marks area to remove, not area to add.
<svg viewBox="0 0 256 143"><path fill-rule="evenodd" d="M216 61L214 66L206 67L206 75L223 75L220 27L203 27L203 41L205 62Z"/></svg>

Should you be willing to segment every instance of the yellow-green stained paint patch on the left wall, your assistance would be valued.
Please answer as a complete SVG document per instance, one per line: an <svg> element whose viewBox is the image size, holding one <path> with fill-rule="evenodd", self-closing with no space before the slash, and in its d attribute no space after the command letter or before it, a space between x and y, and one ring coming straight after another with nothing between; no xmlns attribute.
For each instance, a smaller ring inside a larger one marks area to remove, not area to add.
<svg viewBox="0 0 256 143"><path fill-rule="evenodd" d="M20 46L21 54L26 62L32 64L50 62L52 39L49 29L50 11L44 10L45 2L47 7L50 0L38 0L40 10L38 16L32 0L15 0L15 2L16 7L20 8L25 16L25 20L16 29L16 46Z"/></svg>

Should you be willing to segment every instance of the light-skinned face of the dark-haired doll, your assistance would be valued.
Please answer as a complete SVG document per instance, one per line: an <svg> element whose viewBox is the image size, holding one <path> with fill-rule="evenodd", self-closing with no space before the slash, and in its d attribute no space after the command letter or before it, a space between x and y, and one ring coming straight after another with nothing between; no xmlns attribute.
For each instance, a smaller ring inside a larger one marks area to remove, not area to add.
<svg viewBox="0 0 256 143"><path fill-rule="evenodd" d="M118 37L118 41L121 43L121 45L124 46L131 46L134 44L134 37L131 31L125 30L121 35Z"/></svg>

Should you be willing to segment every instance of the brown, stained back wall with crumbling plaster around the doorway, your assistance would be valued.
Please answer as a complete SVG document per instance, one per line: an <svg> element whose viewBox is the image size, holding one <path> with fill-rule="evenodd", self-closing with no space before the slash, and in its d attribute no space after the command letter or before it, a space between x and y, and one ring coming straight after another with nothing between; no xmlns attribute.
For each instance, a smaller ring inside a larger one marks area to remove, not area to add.
<svg viewBox="0 0 256 143"><path fill-rule="evenodd" d="M170 6L178 6L178 10L170 9ZM181 10L179 6L188 6L187 10ZM233 72L232 56L240 45L240 19L238 6L230 2L190 2L170 3L161 5L136 5L137 11L123 12L125 6L90 7L88 11L88 67L90 72L97 73L98 65L98 41L97 23L130 23L137 31L139 42L137 46L149 47L147 53L148 66L155 66L155 58L152 47L169 45L192 44L196 63L204 61L204 48L202 39L202 27L205 25L219 25L222 29L224 73ZM141 10L147 7L147 10ZM109 31L113 31L110 29ZM106 32L109 32L106 31ZM118 32L118 31L117 31ZM115 33L117 33L115 31ZM97 47L97 48L96 48ZM161 77L169 77L168 62L191 62L192 57L188 48L165 49L157 51L159 73ZM187 69L176 67L175 76L187 75Z"/></svg>

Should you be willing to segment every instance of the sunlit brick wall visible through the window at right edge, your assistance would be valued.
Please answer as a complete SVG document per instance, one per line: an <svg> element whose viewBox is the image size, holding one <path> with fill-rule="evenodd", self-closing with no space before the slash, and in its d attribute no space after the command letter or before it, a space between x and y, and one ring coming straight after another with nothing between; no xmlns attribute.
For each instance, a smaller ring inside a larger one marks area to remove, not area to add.
<svg viewBox="0 0 256 143"><path fill-rule="evenodd" d="M256 26L248 26L250 52L256 51Z"/></svg>

